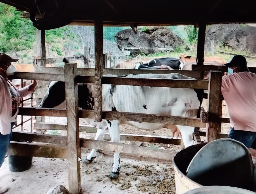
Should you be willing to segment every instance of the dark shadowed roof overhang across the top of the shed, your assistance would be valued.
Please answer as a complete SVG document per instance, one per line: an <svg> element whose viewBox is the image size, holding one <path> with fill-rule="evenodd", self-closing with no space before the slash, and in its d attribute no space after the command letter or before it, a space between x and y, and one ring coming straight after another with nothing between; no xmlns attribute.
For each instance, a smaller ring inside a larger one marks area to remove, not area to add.
<svg viewBox="0 0 256 194"><path fill-rule="evenodd" d="M195 25L256 23L254 15L256 1L243 0L0 0L20 11L35 12L54 22L89 22L102 20L105 25L153 26L153 25ZM37 5L33 5L37 2ZM238 2L238 1L237 1ZM37 16L38 17L38 16Z"/></svg>

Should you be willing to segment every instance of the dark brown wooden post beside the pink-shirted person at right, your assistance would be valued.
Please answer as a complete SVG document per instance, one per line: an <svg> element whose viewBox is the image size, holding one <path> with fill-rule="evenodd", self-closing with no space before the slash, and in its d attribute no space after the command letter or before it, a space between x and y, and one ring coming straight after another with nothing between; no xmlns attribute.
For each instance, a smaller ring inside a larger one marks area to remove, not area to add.
<svg viewBox="0 0 256 194"><path fill-rule="evenodd" d="M218 139L221 79L221 71L210 71L208 87L208 123L206 123L207 142Z"/></svg>

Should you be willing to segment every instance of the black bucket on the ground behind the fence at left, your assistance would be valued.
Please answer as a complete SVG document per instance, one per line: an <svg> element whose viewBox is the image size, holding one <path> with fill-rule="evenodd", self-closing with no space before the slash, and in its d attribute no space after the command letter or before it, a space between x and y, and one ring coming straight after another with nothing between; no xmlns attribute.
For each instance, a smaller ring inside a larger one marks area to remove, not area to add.
<svg viewBox="0 0 256 194"><path fill-rule="evenodd" d="M21 141L24 142L24 141ZM31 143L31 142L28 142ZM8 155L9 170L11 172L22 172L32 166L33 156L12 156Z"/></svg>

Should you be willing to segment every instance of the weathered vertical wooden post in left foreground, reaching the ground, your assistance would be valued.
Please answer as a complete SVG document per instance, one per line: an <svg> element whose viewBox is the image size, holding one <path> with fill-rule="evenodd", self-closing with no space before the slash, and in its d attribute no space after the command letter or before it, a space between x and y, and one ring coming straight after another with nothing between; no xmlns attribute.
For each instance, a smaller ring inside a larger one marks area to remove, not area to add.
<svg viewBox="0 0 256 194"><path fill-rule="evenodd" d="M78 94L76 64L65 64L64 80L66 91L67 111L67 138L68 138L68 187L73 194L79 194L81 190L80 162L81 148L79 144L79 118L78 118Z"/></svg>

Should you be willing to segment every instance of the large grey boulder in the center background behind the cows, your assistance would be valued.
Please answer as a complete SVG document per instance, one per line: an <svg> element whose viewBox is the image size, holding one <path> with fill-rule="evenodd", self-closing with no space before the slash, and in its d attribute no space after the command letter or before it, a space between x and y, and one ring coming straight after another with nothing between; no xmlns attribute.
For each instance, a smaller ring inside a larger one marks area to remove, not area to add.
<svg viewBox="0 0 256 194"><path fill-rule="evenodd" d="M132 29L125 29L115 35L115 41L120 50L127 47L169 48L170 50L184 47L186 50L189 50L188 45L178 35L175 35L165 27L140 28L137 30L137 34ZM159 50L150 51L141 49L136 50L132 54L139 54L137 51L143 51L145 54L160 52Z"/></svg>

